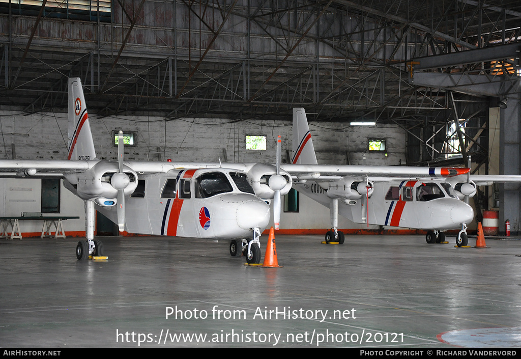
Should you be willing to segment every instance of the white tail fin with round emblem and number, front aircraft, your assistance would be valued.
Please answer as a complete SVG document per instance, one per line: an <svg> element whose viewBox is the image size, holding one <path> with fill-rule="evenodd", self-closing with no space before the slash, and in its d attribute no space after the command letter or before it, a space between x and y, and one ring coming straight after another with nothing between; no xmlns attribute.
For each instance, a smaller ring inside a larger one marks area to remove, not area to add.
<svg viewBox="0 0 521 359"><path fill-rule="evenodd" d="M68 160L96 158L94 141L80 78L69 79L69 151Z"/></svg>

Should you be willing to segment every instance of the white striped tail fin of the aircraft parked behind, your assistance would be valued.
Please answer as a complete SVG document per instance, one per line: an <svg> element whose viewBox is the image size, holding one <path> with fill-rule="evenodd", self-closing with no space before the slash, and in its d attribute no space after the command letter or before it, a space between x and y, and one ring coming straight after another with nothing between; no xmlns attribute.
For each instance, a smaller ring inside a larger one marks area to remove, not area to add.
<svg viewBox="0 0 521 359"><path fill-rule="evenodd" d="M306 111L302 107L293 109L293 160L291 163L317 164Z"/></svg>

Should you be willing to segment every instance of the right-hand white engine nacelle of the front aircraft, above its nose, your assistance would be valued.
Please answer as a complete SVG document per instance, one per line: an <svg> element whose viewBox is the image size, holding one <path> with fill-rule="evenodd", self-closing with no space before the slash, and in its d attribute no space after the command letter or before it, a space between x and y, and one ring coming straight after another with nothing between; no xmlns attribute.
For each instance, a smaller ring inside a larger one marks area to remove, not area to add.
<svg viewBox="0 0 521 359"><path fill-rule="evenodd" d="M277 174L277 167L266 163L256 163L246 173L255 194L263 199L272 199L275 197L275 190L280 188L280 195L284 196L290 192L293 181L288 172L280 170L280 174L285 179L286 184L281 178L271 176Z"/></svg>

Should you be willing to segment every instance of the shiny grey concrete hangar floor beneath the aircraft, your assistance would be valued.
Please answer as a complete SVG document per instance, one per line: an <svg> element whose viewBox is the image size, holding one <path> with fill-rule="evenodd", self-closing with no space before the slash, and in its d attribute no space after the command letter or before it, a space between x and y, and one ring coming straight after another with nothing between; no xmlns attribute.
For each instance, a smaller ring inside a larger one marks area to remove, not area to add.
<svg viewBox="0 0 521 359"><path fill-rule="evenodd" d="M0 241L0 346L521 345L521 241L280 235L283 268L266 269L227 241L98 239L107 261L76 260L79 238ZM266 318L275 309L291 317Z"/></svg>

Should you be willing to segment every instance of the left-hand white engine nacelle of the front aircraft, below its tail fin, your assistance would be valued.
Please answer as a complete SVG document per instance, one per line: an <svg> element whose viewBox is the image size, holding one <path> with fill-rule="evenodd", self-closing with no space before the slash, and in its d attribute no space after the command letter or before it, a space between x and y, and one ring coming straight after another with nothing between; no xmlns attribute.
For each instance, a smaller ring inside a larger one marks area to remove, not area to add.
<svg viewBox="0 0 521 359"><path fill-rule="evenodd" d="M85 200L99 198L96 203L105 207L107 207L106 204L104 205L106 201L117 202L118 189L123 189L123 193L128 196L138 186L138 175L134 170L124 165L123 174L120 174L118 163L111 161L100 161L85 172L67 173L64 176L70 184L66 187L75 192L78 197Z"/></svg>

